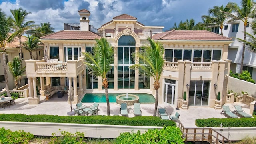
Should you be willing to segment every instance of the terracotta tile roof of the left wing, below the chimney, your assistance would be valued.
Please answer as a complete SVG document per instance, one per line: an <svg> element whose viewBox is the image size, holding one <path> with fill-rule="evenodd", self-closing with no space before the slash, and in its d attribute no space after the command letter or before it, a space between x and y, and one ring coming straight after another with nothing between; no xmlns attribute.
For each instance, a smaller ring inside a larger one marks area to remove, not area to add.
<svg viewBox="0 0 256 144"><path fill-rule="evenodd" d="M40 39L51 40L95 40L101 37L90 31L78 31L78 30L61 30L47 36L43 36Z"/></svg>

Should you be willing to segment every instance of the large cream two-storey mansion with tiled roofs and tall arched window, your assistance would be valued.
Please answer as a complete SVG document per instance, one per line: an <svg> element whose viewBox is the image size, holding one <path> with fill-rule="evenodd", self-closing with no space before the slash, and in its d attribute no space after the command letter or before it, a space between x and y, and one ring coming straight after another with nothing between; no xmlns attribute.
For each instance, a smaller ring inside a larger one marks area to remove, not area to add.
<svg viewBox="0 0 256 144"><path fill-rule="evenodd" d="M214 107L218 91L226 96L230 68L228 46L232 38L206 30L162 32L164 26L145 26L128 14L116 16L96 29L89 24L88 10L78 13L80 24L64 24L64 30L40 38L49 58L56 62L26 60L30 101L34 100L31 103L39 102L34 85L36 77L40 77L42 95L46 89L44 83L69 88L72 85L75 103L85 93L102 92L102 79L88 74L81 55L81 52L91 52L95 39L101 37L107 38L114 48L113 68L107 74L109 93L118 90L120 93L154 94L154 80L129 68L136 63L131 53L148 45L146 38L150 37L162 42L165 48L159 103L180 107L186 92L189 106ZM222 104L224 102L223 98Z"/></svg>

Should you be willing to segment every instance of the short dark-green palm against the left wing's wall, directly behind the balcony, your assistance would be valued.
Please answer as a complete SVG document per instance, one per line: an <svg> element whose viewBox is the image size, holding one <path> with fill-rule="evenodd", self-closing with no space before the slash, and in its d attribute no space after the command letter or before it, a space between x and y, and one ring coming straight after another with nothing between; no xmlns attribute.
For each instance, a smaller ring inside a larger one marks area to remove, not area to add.
<svg viewBox="0 0 256 144"><path fill-rule="evenodd" d="M30 59L32 59L32 52L37 51L38 48L41 48L42 46L39 46L39 38L36 36L28 36L26 37L28 40L26 42L22 42L22 48L25 50L28 50L30 54ZM36 60L38 60L37 52L36 52Z"/></svg>

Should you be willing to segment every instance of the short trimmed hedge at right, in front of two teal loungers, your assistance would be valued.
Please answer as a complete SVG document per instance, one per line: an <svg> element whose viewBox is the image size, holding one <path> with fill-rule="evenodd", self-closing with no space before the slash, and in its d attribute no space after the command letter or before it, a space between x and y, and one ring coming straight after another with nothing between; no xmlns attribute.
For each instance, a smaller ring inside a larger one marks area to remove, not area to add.
<svg viewBox="0 0 256 144"><path fill-rule="evenodd" d="M198 127L254 127L256 118L208 118L196 119Z"/></svg>

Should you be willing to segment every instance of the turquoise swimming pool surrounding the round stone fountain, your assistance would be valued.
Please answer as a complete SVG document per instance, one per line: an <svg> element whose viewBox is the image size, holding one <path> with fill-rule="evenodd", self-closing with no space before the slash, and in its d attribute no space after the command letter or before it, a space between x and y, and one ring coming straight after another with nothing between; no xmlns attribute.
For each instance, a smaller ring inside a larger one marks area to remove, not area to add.
<svg viewBox="0 0 256 144"><path fill-rule="evenodd" d="M129 93L132 94L132 93ZM109 102L116 102L116 96L120 94L108 94ZM141 104L154 104L156 102L152 94L135 94L140 97ZM81 102L106 102L105 94L85 94Z"/></svg>

